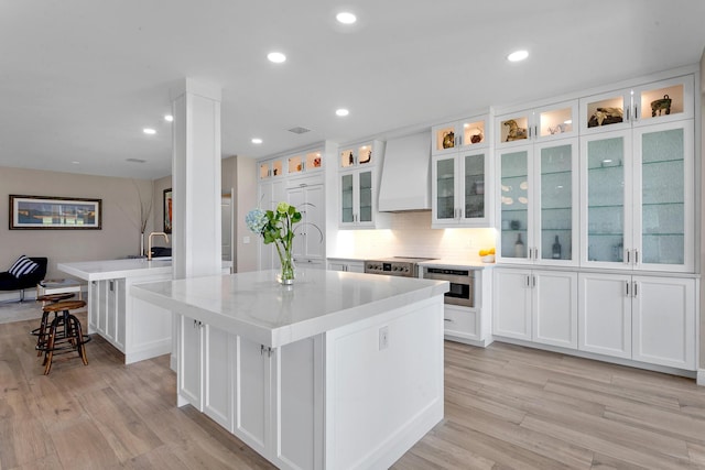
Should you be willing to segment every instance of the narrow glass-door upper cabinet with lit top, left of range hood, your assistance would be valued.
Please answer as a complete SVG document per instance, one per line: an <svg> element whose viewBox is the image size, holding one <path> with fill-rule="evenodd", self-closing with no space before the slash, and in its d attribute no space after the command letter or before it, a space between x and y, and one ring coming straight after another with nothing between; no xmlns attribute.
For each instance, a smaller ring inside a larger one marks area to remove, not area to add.
<svg viewBox="0 0 705 470"><path fill-rule="evenodd" d="M377 210L383 147L379 141L340 147L339 228L373 229L387 225L388 215Z"/></svg>

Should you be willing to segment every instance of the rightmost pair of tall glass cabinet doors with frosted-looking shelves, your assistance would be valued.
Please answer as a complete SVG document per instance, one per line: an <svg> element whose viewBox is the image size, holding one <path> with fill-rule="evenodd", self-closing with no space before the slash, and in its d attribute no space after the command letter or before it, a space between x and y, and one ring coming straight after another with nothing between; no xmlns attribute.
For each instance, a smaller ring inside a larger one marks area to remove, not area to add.
<svg viewBox="0 0 705 470"><path fill-rule="evenodd" d="M693 121L583 140L586 265L692 272Z"/></svg>

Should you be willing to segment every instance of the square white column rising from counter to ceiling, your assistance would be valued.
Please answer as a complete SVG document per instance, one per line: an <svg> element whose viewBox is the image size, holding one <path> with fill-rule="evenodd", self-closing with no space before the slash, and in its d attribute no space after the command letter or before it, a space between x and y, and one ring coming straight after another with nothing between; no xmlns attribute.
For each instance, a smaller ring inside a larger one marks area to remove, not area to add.
<svg viewBox="0 0 705 470"><path fill-rule="evenodd" d="M186 78L172 110L174 278L219 274L220 88Z"/></svg>

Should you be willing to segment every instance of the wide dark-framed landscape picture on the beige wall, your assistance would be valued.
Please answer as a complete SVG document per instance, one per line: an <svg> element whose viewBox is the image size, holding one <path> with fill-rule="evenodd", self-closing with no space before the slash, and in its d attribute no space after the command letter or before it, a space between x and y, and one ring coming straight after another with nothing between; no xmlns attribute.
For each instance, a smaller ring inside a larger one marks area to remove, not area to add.
<svg viewBox="0 0 705 470"><path fill-rule="evenodd" d="M10 195L10 230L100 230L102 199Z"/></svg>

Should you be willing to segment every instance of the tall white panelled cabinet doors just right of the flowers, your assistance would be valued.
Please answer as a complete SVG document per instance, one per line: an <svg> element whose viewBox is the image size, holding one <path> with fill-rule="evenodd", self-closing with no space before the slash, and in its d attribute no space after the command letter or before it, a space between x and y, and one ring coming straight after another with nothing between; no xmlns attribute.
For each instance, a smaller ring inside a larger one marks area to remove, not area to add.
<svg viewBox="0 0 705 470"><path fill-rule="evenodd" d="M319 178L290 182L286 189L289 204L301 212L301 222L294 226L292 254L297 266L323 269L325 261L325 194Z"/></svg>

